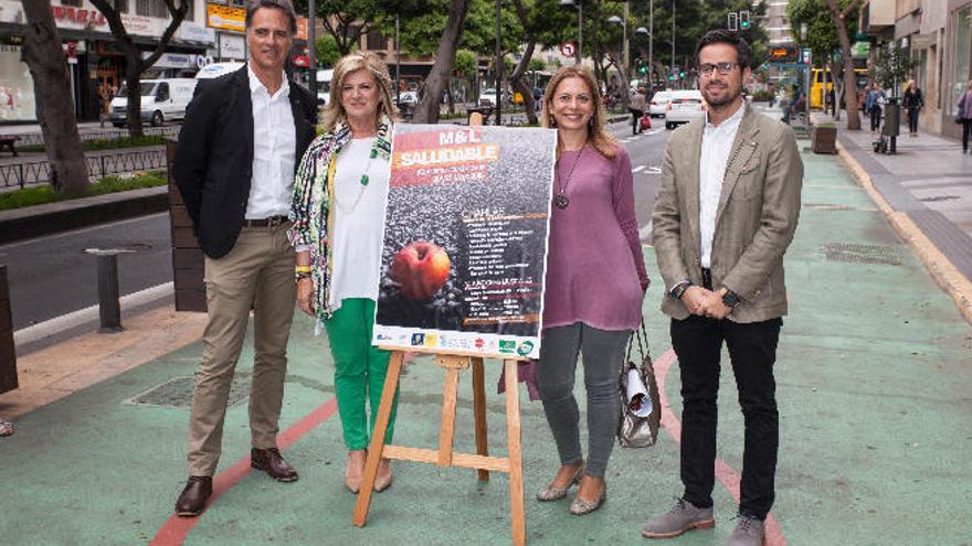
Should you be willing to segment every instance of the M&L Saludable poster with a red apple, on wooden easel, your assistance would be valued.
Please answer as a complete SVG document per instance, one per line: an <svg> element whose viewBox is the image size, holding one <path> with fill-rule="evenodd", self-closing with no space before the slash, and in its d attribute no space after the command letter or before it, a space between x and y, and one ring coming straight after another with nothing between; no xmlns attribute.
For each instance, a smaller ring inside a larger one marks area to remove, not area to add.
<svg viewBox="0 0 972 546"><path fill-rule="evenodd" d="M398 125L372 343L540 355L557 133Z"/></svg>

